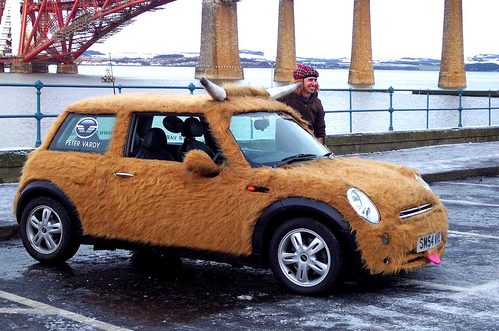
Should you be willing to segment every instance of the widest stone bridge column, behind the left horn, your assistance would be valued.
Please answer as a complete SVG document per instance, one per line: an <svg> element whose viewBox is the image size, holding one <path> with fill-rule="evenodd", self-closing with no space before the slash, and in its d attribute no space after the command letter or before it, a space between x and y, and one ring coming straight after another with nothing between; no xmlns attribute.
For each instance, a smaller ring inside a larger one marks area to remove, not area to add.
<svg viewBox="0 0 499 331"><path fill-rule="evenodd" d="M236 0L203 0L196 78L243 79Z"/></svg>

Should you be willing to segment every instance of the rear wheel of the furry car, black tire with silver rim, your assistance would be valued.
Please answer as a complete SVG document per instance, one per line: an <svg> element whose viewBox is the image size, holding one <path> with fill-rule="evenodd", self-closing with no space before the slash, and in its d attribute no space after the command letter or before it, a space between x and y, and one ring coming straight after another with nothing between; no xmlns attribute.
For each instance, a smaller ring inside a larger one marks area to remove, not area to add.
<svg viewBox="0 0 499 331"><path fill-rule="evenodd" d="M46 196L29 201L20 221L22 243L34 259L45 263L61 263L71 258L80 242L76 225L64 206Z"/></svg>

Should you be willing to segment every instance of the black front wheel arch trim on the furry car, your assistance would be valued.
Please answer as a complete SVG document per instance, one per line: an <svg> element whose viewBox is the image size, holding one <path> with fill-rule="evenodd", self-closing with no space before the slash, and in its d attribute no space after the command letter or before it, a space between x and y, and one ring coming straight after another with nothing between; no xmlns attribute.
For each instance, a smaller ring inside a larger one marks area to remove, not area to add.
<svg viewBox="0 0 499 331"><path fill-rule="evenodd" d="M252 235L252 254L259 256L262 264L267 265L268 242L275 229L290 218L312 217L323 223L337 236L340 245L349 251L356 249L355 234L350 223L343 219L331 205L307 197L287 197L270 204L256 220Z"/></svg>

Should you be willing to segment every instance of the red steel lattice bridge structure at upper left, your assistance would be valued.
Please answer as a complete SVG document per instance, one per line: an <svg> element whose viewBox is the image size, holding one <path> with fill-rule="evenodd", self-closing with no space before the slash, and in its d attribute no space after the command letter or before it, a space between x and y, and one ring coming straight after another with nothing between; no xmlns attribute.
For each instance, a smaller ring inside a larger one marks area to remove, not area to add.
<svg viewBox="0 0 499 331"><path fill-rule="evenodd" d="M0 0L0 63L73 63L135 16L172 1Z"/></svg>

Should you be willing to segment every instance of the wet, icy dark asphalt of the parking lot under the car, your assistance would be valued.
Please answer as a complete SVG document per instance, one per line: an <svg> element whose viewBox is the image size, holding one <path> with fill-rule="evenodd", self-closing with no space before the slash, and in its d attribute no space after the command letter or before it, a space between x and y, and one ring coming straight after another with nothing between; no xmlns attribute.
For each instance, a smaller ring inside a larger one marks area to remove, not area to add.
<svg viewBox="0 0 499 331"><path fill-rule="evenodd" d="M499 330L499 176L431 187L449 213L442 264L328 297L288 293L268 270L91 246L50 266L0 241L0 329Z"/></svg>

